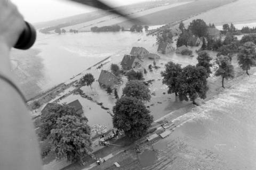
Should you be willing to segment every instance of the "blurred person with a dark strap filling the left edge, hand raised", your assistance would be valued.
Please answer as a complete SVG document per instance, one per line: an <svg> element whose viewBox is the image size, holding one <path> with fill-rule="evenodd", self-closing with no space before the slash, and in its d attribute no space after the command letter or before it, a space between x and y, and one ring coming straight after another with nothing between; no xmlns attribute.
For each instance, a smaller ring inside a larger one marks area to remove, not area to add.
<svg viewBox="0 0 256 170"><path fill-rule="evenodd" d="M0 169L42 169L26 99L11 72L10 50L24 29L17 7L0 0Z"/></svg>

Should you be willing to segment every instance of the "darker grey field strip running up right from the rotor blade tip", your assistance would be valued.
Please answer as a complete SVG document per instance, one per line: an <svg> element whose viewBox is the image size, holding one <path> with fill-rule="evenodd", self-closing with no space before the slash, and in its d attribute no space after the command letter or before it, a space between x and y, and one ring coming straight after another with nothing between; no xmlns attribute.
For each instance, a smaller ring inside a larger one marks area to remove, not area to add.
<svg viewBox="0 0 256 170"><path fill-rule="evenodd" d="M161 25L166 23L172 23L175 21L188 19L192 16L209 11L212 8L226 5L236 1L237 0L198 0L189 4L180 5L174 8L169 8L167 10L158 11L145 16L141 16L138 19L141 21L146 21L146 24L148 25ZM118 23L118 25L121 25L125 28L130 28L132 23L129 21L124 21Z"/></svg>

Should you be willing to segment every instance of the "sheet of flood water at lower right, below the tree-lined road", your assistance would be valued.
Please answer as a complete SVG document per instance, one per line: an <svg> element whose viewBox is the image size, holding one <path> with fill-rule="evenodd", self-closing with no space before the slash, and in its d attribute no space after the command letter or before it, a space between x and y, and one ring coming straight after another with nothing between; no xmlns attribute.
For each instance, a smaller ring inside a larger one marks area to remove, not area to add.
<svg viewBox="0 0 256 170"><path fill-rule="evenodd" d="M191 169L253 170L256 168L255 102L256 74L177 118L174 123L180 125L179 128L154 148L162 151L174 141L184 143L186 149L175 147L179 151L174 154L178 158L173 164L186 159L177 169L191 164ZM172 150L169 153L172 154ZM211 168L205 168L205 164Z"/></svg>

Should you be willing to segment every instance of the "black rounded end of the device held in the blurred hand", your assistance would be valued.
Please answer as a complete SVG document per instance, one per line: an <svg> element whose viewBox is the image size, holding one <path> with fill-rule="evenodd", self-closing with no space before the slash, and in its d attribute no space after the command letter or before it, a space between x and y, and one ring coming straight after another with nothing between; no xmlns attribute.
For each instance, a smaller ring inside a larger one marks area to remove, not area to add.
<svg viewBox="0 0 256 170"><path fill-rule="evenodd" d="M26 27L21 33L14 48L28 49L32 47L36 41L36 29L30 23L26 22Z"/></svg>

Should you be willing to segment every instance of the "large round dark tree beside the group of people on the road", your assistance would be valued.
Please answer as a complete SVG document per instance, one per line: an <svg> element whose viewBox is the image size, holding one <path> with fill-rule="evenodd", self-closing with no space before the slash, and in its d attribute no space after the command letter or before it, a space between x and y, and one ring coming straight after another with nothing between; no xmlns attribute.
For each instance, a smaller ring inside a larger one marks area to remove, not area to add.
<svg viewBox="0 0 256 170"><path fill-rule="evenodd" d="M153 122L153 116L142 103L133 97L122 97L113 107L114 128L123 130L127 137L139 139L147 133Z"/></svg>

